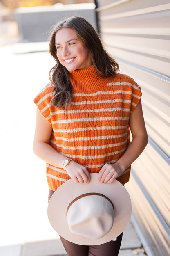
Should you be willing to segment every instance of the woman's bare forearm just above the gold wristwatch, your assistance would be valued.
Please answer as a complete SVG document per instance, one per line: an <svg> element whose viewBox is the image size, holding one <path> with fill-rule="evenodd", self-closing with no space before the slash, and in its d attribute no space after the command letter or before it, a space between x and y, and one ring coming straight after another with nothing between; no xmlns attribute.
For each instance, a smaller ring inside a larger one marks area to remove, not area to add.
<svg viewBox="0 0 170 256"><path fill-rule="evenodd" d="M34 153L45 162L50 165L54 165L58 168L63 168L62 163L66 157L58 153L52 146L46 142L34 142L33 144Z"/></svg>

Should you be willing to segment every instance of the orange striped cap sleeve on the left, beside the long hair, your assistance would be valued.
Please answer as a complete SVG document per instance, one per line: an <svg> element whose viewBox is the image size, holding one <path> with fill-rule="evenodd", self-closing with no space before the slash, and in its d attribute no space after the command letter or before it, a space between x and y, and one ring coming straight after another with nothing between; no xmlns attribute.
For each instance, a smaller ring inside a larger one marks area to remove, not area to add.
<svg viewBox="0 0 170 256"><path fill-rule="evenodd" d="M51 99L53 98L53 88L54 86L51 84L45 86L33 100L43 117L45 117L49 123L51 123Z"/></svg>

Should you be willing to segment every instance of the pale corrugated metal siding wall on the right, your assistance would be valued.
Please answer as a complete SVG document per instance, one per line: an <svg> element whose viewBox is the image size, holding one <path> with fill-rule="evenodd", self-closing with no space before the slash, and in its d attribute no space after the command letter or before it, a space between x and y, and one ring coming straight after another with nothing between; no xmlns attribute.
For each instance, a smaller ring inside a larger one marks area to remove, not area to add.
<svg viewBox="0 0 170 256"><path fill-rule="evenodd" d="M170 255L170 1L98 0L98 26L120 70L142 88L149 143L126 185L148 255Z"/></svg>

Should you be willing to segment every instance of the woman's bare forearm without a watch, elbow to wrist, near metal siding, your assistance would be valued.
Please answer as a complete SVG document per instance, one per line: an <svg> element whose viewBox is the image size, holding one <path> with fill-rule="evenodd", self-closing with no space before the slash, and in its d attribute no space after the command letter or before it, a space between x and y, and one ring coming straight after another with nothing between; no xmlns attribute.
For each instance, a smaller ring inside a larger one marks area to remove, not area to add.
<svg viewBox="0 0 170 256"><path fill-rule="evenodd" d="M138 135L132 139L132 142L130 142L125 153L116 162L119 165L122 173L139 157L147 143L147 134Z"/></svg>

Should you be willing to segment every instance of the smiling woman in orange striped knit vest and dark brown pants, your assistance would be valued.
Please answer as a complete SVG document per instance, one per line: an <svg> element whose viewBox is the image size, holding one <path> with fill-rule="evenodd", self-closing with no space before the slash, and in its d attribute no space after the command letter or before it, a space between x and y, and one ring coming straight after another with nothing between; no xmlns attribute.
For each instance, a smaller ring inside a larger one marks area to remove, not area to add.
<svg viewBox="0 0 170 256"><path fill-rule="evenodd" d="M140 87L117 73L119 65L84 18L57 24L49 52L56 65L49 72L51 83L34 99L33 145L47 162L49 198L70 178L89 183L89 173L98 173L101 183L117 179L124 185L148 142ZM121 239L122 234L116 241L84 246L61 238L69 256L117 256Z"/></svg>

